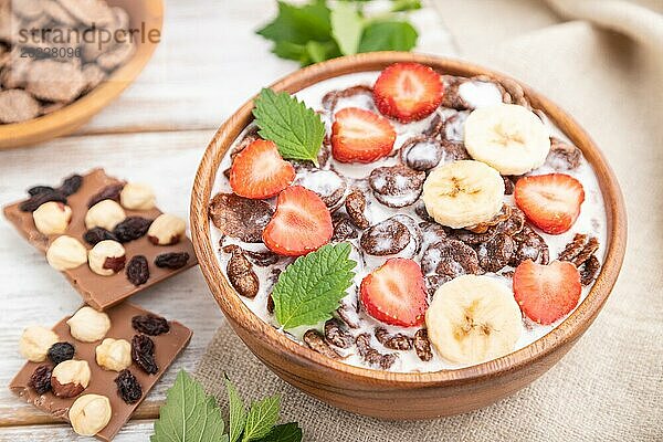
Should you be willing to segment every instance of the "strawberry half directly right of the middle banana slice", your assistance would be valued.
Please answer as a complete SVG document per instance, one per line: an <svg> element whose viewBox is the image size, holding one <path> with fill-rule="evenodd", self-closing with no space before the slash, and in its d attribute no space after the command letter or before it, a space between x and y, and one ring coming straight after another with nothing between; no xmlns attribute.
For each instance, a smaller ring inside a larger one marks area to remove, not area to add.
<svg viewBox="0 0 663 442"><path fill-rule="evenodd" d="M568 231L580 214L585 189L566 173L524 177L514 191L516 204L537 228L546 233Z"/></svg>

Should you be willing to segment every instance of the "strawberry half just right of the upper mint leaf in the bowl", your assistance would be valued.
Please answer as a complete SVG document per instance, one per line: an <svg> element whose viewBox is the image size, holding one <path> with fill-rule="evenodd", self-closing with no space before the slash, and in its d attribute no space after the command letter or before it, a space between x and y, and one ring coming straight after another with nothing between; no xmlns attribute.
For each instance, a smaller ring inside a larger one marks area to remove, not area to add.
<svg viewBox="0 0 663 442"><path fill-rule="evenodd" d="M396 131L391 123L358 107L339 110L332 126L332 155L340 162L371 162L391 154Z"/></svg>

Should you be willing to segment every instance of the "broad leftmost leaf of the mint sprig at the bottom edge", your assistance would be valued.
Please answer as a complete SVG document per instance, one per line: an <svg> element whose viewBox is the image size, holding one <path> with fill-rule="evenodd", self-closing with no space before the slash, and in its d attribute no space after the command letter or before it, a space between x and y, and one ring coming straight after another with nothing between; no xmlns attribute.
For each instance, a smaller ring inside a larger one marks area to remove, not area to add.
<svg viewBox="0 0 663 442"><path fill-rule="evenodd" d="M186 371L177 375L168 390L166 404L159 410L151 442L228 442L223 418L213 397Z"/></svg>

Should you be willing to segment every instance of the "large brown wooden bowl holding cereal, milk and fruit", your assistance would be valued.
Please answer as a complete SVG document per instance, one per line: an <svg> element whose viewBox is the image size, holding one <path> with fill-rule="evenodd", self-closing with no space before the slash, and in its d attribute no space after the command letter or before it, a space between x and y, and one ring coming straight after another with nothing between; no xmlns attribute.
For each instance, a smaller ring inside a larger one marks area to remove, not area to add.
<svg viewBox="0 0 663 442"><path fill-rule="evenodd" d="M359 54L297 71L276 82L275 91L294 93L322 80L379 71L413 61L441 73L503 74L464 62L400 52ZM513 80L511 80L513 81ZM582 149L593 166L606 200L609 244L593 288L559 326L527 347L502 358L457 370L398 373L358 368L326 358L294 343L255 316L223 276L210 240L208 203L219 164L240 131L252 120L253 102L244 104L210 143L193 183L191 230L202 273L234 332L270 369L306 393L355 413L390 419L431 419L485 407L527 386L555 365L597 317L619 274L627 240L627 215L617 179L600 150L578 124L552 102L525 87L526 96ZM219 367L219 373L222 371Z"/></svg>

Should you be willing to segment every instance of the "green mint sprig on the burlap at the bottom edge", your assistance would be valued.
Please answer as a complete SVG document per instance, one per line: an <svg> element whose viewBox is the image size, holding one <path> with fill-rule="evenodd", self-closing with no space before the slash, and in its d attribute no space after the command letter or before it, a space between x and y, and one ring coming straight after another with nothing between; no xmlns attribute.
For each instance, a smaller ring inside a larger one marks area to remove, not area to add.
<svg viewBox="0 0 663 442"><path fill-rule="evenodd" d="M168 390L166 404L155 421L150 442L301 442L302 429L296 422L276 425L281 409L278 394L252 403L246 413L236 388L225 377L230 407L230 433L221 410L202 385L186 371L177 375Z"/></svg>

